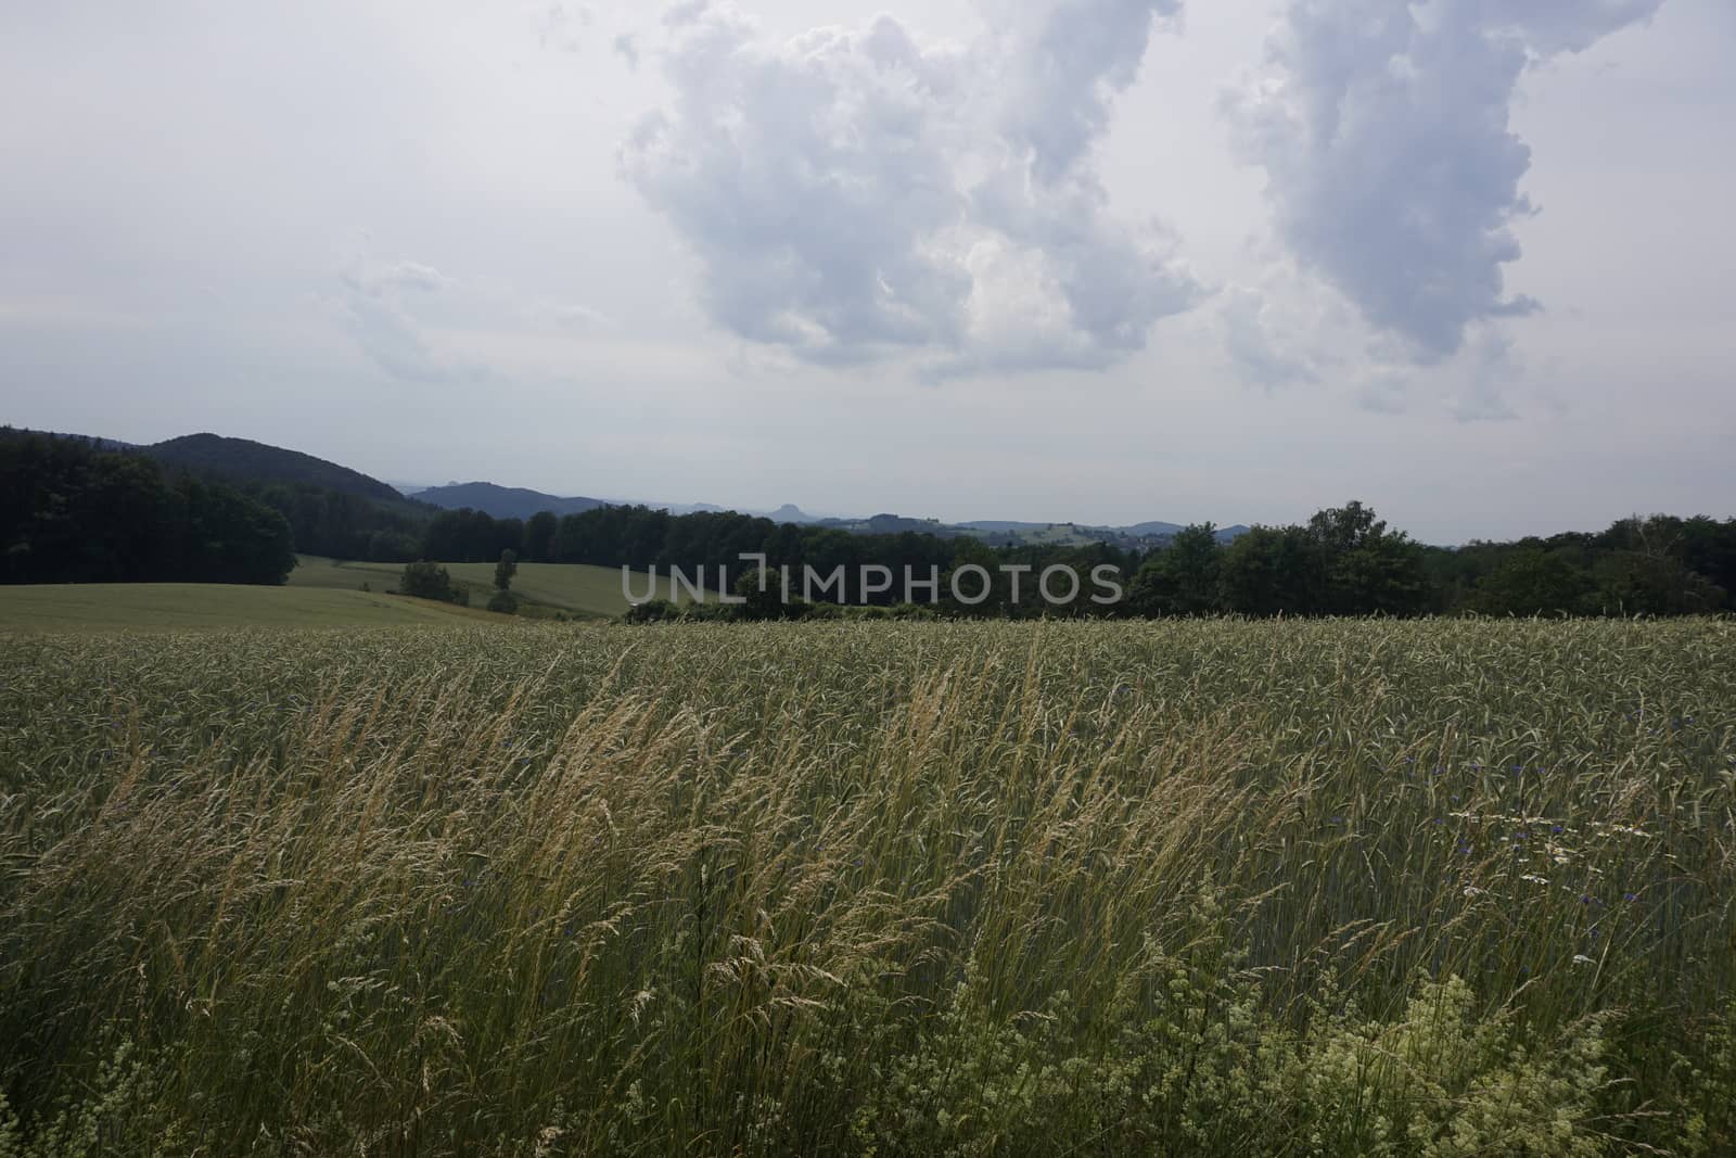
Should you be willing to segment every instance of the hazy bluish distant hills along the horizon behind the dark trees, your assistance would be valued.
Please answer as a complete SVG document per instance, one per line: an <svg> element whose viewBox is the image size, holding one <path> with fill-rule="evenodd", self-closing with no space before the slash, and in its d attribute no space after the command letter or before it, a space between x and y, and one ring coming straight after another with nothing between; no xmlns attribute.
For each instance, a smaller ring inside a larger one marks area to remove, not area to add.
<svg viewBox="0 0 1736 1158"><path fill-rule="evenodd" d="M420 503L424 509L437 507L444 510L483 510L496 519L528 519L538 510L554 514L578 514L608 505L634 505L635 500L589 498L583 495L549 495L524 486L500 486L498 483L448 483L444 486L408 488L399 491L387 483L370 477L359 470L304 455L297 450L283 450L245 438L222 438L219 434L186 434L163 443L142 446L109 438L92 438L87 434L54 434L54 438L76 438L108 450L127 450L149 455L158 462L200 474L229 476L236 479L260 483L295 483L359 495L380 503L404 505ZM670 514L724 512L726 507L713 503L663 503L642 502L653 509ZM804 526L826 526L854 535L899 535L915 531L922 535L939 535L957 538L970 535L996 547L1017 545L1082 545L1108 542L1120 547L1153 547L1182 530L1179 523L1134 523L1130 526L1090 526L1080 523L1021 523L1010 519L977 519L970 523L941 523L939 519L917 519L898 514L877 514L865 519L835 519L811 516L793 503L785 503L776 510L745 510L767 517L774 523L799 523ZM1246 526L1236 524L1219 528L1217 538L1231 542L1246 533Z"/></svg>

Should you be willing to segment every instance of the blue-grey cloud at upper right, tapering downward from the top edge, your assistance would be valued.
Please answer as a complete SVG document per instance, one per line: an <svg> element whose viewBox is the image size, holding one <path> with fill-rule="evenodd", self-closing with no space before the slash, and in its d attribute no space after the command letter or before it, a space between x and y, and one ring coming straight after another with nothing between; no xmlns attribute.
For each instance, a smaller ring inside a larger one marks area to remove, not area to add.
<svg viewBox="0 0 1736 1158"><path fill-rule="evenodd" d="M1415 361L1453 356L1509 297L1531 149L1509 111L1526 68L1651 17L1661 0L1288 0L1267 76L1227 109L1266 168L1279 238Z"/></svg>

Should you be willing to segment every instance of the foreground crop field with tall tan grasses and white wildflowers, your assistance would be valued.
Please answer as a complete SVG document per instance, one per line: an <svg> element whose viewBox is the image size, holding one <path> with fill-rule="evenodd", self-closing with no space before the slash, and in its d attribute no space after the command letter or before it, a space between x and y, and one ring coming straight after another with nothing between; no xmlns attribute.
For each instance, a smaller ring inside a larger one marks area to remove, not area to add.
<svg viewBox="0 0 1736 1158"><path fill-rule="evenodd" d="M1729 620L0 634L0 1155L1729 1155L1733 1002Z"/></svg>

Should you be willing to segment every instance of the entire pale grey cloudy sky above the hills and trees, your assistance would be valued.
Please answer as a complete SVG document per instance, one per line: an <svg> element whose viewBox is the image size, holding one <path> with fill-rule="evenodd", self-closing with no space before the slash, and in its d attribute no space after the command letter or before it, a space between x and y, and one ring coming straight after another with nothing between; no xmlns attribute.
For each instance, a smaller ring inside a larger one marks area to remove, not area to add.
<svg viewBox="0 0 1736 1158"><path fill-rule="evenodd" d="M1427 542L1736 516L1729 0L0 7L0 422Z"/></svg>

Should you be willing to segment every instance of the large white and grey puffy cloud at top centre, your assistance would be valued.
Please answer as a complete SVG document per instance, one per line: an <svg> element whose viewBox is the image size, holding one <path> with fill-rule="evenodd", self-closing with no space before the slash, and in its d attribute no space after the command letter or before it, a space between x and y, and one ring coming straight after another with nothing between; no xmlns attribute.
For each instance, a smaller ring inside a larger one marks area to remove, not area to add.
<svg viewBox="0 0 1736 1158"><path fill-rule="evenodd" d="M1106 366L1200 288L1092 165L1177 0L984 5L970 45L880 16L773 43L670 12L670 109L621 167L701 262L712 319L811 363L930 373ZM1083 30L1083 35L1082 35Z"/></svg>

